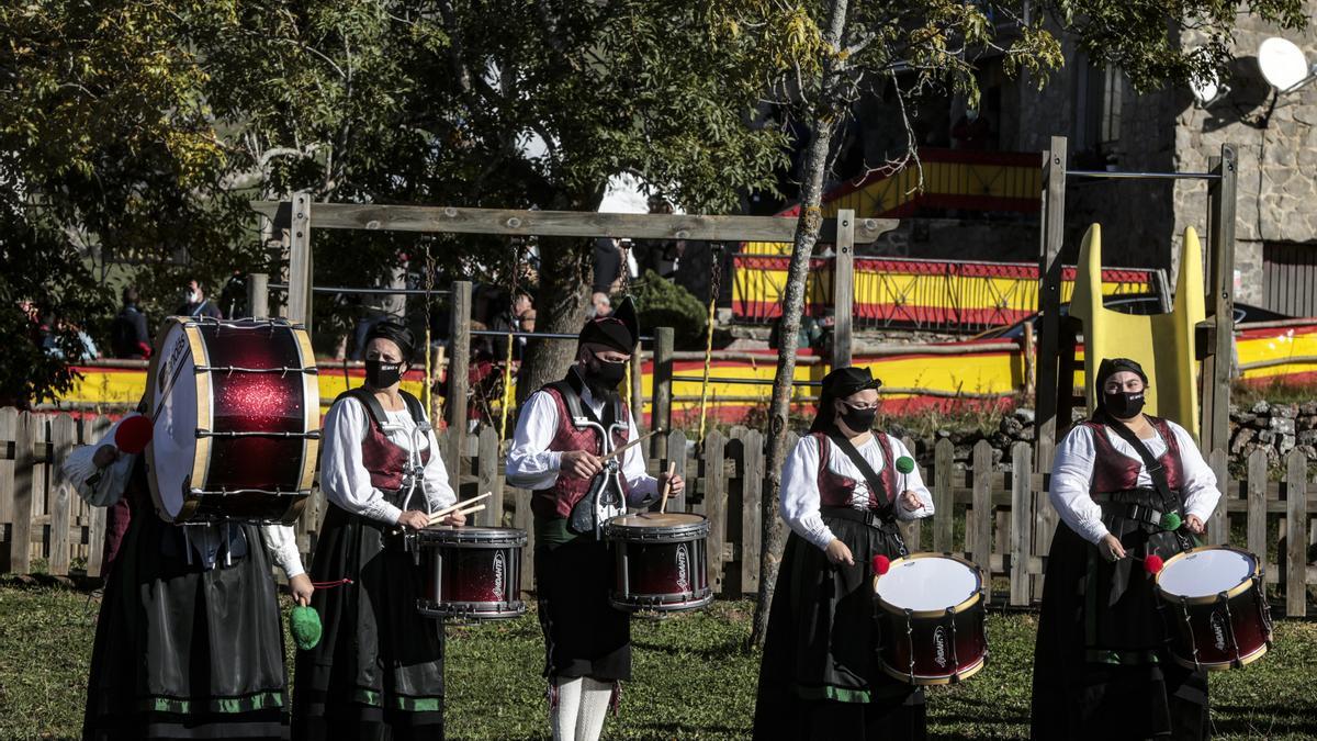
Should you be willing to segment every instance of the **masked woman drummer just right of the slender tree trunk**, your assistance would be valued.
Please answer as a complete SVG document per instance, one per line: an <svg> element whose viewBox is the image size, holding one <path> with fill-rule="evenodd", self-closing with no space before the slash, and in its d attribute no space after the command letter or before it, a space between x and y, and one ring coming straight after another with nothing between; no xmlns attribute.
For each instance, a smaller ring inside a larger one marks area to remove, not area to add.
<svg viewBox="0 0 1317 741"><path fill-rule="evenodd" d="M897 521L932 516L910 451L873 430L878 386L868 368L823 378L810 434L782 467L782 552L755 707L755 738L926 736L923 690L878 666L873 559L905 554ZM906 463L913 464L913 460Z"/></svg>

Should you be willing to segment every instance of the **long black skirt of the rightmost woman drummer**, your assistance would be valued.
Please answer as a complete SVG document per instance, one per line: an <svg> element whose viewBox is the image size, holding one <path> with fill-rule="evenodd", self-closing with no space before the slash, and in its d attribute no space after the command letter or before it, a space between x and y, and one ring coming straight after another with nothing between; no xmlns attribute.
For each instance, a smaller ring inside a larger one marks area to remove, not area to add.
<svg viewBox="0 0 1317 741"><path fill-rule="evenodd" d="M1154 552L1171 558L1187 545L1173 533L1125 519L1109 529L1141 559ZM1166 642L1143 564L1134 558L1106 562L1097 546L1058 527L1034 653L1033 737L1209 737L1206 672L1175 663Z"/></svg>

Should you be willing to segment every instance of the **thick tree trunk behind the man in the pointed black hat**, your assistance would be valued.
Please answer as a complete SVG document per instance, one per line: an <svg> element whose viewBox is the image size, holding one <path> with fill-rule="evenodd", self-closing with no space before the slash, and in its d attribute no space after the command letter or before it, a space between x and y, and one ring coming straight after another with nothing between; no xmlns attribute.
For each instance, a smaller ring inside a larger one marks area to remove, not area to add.
<svg viewBox="0 0 1317 741"><path fill-rule="evenodd" d="M540 237L540 286L536 294L536 330L576 335L585 324L593 276L589 240ZM574 340L531 340L516 381L516 403L544 384L557 381L576 357Z"/></svg>

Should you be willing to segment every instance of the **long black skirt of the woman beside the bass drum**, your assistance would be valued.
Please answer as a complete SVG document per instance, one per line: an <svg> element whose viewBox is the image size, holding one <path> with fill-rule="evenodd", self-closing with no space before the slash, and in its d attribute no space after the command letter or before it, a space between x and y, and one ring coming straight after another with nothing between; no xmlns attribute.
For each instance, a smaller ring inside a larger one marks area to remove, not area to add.
<svg viewBox="0 0 1317 741"><path fill-rule="evenodd" d="M443 738L444 625L416 610L424 566L391 525L331 506L316 545L311 607L323 636L298 651L295 738Z"/></svg>

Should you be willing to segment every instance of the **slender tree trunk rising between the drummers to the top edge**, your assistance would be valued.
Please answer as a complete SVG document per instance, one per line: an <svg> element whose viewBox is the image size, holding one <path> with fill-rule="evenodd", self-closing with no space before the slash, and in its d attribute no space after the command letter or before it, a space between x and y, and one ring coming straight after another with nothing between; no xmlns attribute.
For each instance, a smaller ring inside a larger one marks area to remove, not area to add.
<svg viewBox="0 0 1317 741"><path fill-rule="evenodd" d="M830 50L840 49L846 29L847 0L832 0L828 9L828 25L824 41ZM781 566L782 547L786 542L786 527L778 517L778 492L782 489L782 463L786 460L786 421L790 413L792 382L795 378L795 341L801 328L801 312L805 309L805 280L810 272L810 257L814 243L818 241L823 214L819 204L823 200L823 175L827 170L828 149L836 127L836 111L830 91L835 76L842 73L844 62L823 65L823 100L813 108L810 140L805 150L805 178L801 183L801 218L795 225L792 244L792 262L786 272L786 294L782 298L782 323L778 330L777 373L773 376L773 401L769 406L768 443L768 487L764 490L761 527L763 550L759 554L759 603L755 605L755 624L749 642L764 647L768 634L768 612L773 604L773 589L777 587L777 571Z"/></svg>

